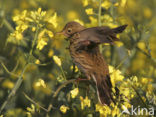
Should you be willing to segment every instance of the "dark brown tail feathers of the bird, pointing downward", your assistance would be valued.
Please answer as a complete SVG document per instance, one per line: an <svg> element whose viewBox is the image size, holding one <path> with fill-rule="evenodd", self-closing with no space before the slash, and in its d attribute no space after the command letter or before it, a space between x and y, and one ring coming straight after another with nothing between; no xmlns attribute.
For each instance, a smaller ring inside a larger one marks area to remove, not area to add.
<svg viewBox="0 0 156 117"><path fill-rule="evenodd" d="M111 104L111 102L115 104L115 99L113 98L113 96L118 95L117 93L119 93L119 90L115 88L116 94L113 94L110 76L107 75L105 78L102 78L101 81L97 80L96 85L100 103L106 104L108 106Z"/></svg>

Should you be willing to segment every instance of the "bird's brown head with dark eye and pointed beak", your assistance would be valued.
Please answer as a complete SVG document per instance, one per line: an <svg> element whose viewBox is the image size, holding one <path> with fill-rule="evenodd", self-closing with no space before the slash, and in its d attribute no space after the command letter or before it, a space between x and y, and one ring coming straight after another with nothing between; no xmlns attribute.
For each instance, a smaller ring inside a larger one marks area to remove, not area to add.
<svg viewBox="0 0 156 117"><path fill-rule="evenodd" d="M66 37L71 37L74 33L80 32L84 30L85 27L77 22L69 22L65 25L63 30L61 32L58 32L57 34L63 34Z"/></svg>

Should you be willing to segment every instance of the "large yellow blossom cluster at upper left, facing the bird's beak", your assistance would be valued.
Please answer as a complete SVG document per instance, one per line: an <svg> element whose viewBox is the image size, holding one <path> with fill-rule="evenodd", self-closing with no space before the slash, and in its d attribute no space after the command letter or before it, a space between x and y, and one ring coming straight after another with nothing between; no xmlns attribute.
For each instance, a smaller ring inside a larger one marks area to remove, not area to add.
<svg viewBox="0 0 156 117"><path fill-rule="evenodd" d="M10 34L8 42L19 44L20 41L24 41L24 32L27 29L31 29L32 32L37 33L37 49L42 50L47 45L48 38L54 36L53 32L46 28L47 24L51 24L54 28L57 27L57 14L53 13L53 16L46 11L42 11L38 8L37 11L24 10L20 14L13 17L13 21L16 23L16 29Z"/></svg>

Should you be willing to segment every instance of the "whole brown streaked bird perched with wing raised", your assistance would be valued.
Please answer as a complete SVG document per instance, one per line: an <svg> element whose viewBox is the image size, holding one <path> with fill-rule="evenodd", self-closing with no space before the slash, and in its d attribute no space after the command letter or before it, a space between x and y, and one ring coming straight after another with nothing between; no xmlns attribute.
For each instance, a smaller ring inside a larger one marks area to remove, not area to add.
<svg viewBox="0 0 156 117"><path fill-rule="evenodd" d="M118 41L116 34L121 33L127 25L114 29L109 27L85 28L77 22L69 22L60 34L69 38L69 51L73 62L88 79L93 78L97 87L97 95L101 104L115 103L112 92L109 69L99 51L99 44Z"/></svg>

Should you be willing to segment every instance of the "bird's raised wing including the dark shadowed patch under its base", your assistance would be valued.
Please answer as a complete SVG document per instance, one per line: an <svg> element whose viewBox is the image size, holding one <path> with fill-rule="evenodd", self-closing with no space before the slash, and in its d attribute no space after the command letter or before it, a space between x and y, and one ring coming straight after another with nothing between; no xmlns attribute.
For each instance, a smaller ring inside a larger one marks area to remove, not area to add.
<svg viewBox="0 0 156 117"><path fill-rule="evenodd" d="M119 26L114 29L110 29L109 27L93 27L87 28L81 32L78 32L77 36L80 47L79 49L83 49L84 47L93 48L102 43L110 43L113 44L114 41L119 41L116 37L117 33L121 33L127 25Z"/></svg>

